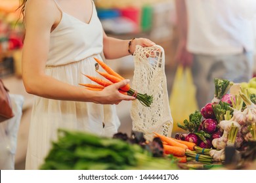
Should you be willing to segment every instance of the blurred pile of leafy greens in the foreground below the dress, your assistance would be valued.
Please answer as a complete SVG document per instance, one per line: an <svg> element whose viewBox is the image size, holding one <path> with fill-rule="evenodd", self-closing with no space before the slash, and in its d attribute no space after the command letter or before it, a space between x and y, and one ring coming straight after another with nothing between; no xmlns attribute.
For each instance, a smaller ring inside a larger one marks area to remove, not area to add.
<svg viewBox="0 0 256 183"><path fill-rule="evenodd" d="M44 170L178 169L164 158L152 157L138 144L59 129Z"/></svg>

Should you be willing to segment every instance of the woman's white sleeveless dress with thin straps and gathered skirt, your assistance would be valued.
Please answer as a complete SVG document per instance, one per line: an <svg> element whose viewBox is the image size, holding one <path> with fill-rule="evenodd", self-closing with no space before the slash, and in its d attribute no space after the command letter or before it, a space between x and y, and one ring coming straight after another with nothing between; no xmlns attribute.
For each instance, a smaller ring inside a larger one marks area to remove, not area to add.
<svg viewBox="0 0 256 183"><path fill-rule="evenodd" d="M46 75L74 86L79 86L79 83L95 84L81 74L99 77L95 72L96 61L93 57L102 60L102 25L96 14L95 4L92 5L93 14L90 22L86 24L66 14L56 4L62 11L62 19L51 33ZM35 96L26 169L40 168L51 150L51 142L57 140L59 128L111 137L117 132L119 125L115 105L58 101Z"/></svg>

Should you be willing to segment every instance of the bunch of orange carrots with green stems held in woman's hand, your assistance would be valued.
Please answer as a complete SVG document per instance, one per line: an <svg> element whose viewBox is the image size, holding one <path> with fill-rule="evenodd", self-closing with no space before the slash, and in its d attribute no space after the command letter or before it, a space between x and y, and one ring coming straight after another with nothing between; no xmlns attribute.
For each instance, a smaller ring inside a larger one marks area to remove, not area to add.
<svg viewBox="0 0 256 183"><path fill-rule="evenodd" d="M100 61L97 58L94 58L94 59L102 67L102 69L106 71L106 73L103 73L97 70L96 72L104 76L104 78L106 78L107 80L102 80L101 78L85 75L87 76L87 78L96 82L98 85L97 84L80 84L81 86L85 86L85 88L87 88L88 90L101 91L106 86L110 86L111 84L120 82L121 80L125 79L121 75L116 73L114 70L112 70L110 67L108 67L108 65L106 65L106 63L104 63L103 61ZM144 94L138 93L137 91L133 90L129 84L123 86L122 88L119 88L119 92L123 93L124 95L130 95L130 96L136 97L137 99L139 99L140 103L146 107L150 107L150 105L153 102L152 95L150 96L150 95L147 95L146 93Z"/></svg>

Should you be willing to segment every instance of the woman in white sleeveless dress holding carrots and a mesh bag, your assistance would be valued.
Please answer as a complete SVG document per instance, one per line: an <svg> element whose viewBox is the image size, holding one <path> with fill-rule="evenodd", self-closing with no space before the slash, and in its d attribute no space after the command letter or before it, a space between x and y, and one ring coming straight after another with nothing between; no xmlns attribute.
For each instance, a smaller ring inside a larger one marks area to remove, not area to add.
<svg viewBox="0 0 256 183"><path fill-rule="evenodd" d="M22 10L26 25L22 77L26 91L35 95L26 169L39 169L57 129L111 137L119 127L111 104L135 99L118 92L129 80L100 92L79 86L93 83L82 73L98 76L93 58L102 60L100 54L106 59L120 58L132 54L137 44L153 46L154 42L108 37L92 0L24 0Z"/></svg>

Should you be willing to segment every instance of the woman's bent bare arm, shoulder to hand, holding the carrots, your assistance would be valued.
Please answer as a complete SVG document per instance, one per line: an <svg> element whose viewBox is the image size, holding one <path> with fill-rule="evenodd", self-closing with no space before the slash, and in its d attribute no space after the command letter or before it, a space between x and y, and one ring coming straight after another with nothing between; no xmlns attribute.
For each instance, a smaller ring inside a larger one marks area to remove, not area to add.
<svg viewBox="0 0 256 183"><path fill-rule="evenodd" d="M60 13L54 1L33 0L27 2L25 14L26 37L22 53L22 78L28 93L50 99L110 104L135 99L117 90L127 84L127 80L114 84L102 92L93 92L45 75L51 28L54 22L58 22Z"/></svg>

